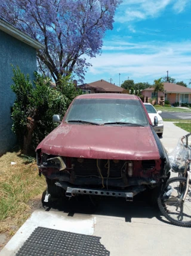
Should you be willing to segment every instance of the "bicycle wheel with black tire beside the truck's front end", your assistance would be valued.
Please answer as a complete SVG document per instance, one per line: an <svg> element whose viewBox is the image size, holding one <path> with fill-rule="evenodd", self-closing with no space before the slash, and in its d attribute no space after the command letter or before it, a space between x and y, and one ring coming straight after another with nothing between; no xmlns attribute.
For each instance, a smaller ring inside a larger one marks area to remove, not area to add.
<svg viewBox="0 0 191 256"><path fill-rule="evenodd" d="M186 191L185 177L174 177L167 181L158 198L158 206L165 218L180 227L191 227L191 182Z"/></svg>

